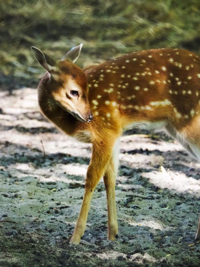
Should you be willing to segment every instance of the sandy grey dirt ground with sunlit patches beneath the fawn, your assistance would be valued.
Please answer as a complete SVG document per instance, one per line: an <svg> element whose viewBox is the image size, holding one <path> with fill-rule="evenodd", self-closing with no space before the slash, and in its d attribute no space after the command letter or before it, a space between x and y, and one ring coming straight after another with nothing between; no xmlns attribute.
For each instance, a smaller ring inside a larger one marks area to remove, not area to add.
<svg viewBox="0 0 200 267"><path fill-rule="evenodd" d="M108 241L103 181L70 245L91 145L45 120L35 89L0 92L0 266L200 266L200 163L161 133L123 136L119 237Z"/></svg>

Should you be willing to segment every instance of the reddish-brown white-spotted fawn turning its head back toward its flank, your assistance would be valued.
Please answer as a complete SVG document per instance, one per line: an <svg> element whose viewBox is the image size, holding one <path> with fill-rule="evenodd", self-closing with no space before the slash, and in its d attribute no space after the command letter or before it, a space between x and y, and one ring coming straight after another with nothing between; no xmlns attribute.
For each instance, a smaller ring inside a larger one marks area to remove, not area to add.
<svg viewBox="0 0 200 267"><path fill-rule="evenodd" d="M164 127L200 160L200 59L184 49L134 52L99 65L74 62L83 44L61 62L39 49L33 54L47 70L38 86L42 113L58 128L92 143L85 193L70 243L83 236L92 194L103 176L107 194L108 239L118 234L115 179L119 138L126 129ZM200 238L200 221L195 239Z"/></svg>

